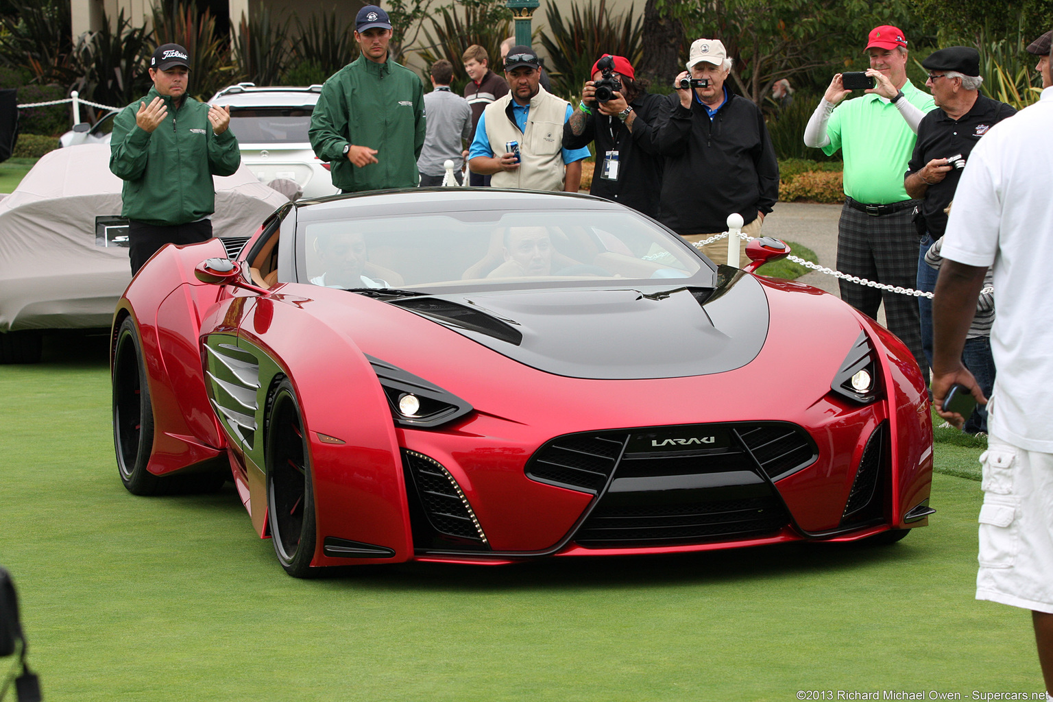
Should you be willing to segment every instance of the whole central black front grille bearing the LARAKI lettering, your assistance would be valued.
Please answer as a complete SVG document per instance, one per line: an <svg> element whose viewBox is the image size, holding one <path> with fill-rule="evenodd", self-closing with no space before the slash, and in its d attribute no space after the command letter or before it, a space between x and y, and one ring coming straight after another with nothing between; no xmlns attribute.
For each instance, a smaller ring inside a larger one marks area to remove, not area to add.
<svg viewBox="0 0 1053 702"><path fill-rule="evenodd" d="M790 514L772 480L817 457L787 422L690 424L558 437L525 470L598 495L573 540L614 548L776 534Z"/></svg>

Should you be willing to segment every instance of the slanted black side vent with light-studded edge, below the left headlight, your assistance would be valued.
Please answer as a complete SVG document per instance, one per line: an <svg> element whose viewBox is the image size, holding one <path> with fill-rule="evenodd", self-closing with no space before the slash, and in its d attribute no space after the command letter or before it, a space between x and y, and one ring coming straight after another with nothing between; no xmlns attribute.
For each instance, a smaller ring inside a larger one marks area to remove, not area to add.
<svg viewBox="0 0 1053 702"><path fill-rule="evenodd" d="M420 506L439 534L486 543L486 536L460 486L438 461L402 449L402 466L412 477Z"/></svg>

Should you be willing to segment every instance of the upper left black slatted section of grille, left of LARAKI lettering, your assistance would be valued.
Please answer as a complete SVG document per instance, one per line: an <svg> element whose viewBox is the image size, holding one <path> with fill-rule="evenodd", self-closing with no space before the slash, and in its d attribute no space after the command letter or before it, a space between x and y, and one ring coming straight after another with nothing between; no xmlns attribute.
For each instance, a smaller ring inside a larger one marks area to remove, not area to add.
<svg viewBox="0 0 1053 702"><path fill-rule="evenodd" d="M572 434L542 446L526 464L538 482L596 494L607 485L625 444L625 434Z"/></svg>

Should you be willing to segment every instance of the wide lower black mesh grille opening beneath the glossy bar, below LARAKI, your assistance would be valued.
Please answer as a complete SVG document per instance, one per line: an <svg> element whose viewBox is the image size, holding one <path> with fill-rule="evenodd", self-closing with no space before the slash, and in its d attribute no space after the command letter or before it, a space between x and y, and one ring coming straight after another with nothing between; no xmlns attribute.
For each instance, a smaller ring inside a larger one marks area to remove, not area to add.
<svg viewBox="0 0 1053 702"><path fill-rule="evenodd" d="M774 495L688 505L600 504L574 537L582 546L650 546L750 538L781 529L790 517Z"/></svg>

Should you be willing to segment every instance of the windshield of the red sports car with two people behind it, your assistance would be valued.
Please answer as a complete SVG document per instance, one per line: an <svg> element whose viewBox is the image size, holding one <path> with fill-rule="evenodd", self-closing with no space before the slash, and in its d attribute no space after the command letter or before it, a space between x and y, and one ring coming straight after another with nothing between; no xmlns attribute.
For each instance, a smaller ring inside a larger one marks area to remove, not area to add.
<svg viewBox="0 0 1053 702"><path fill-rule="evenodd" d="M340 288L682 280L710 272L674 235L625 210L309 221L298 240L299 280Z"/></svg>

